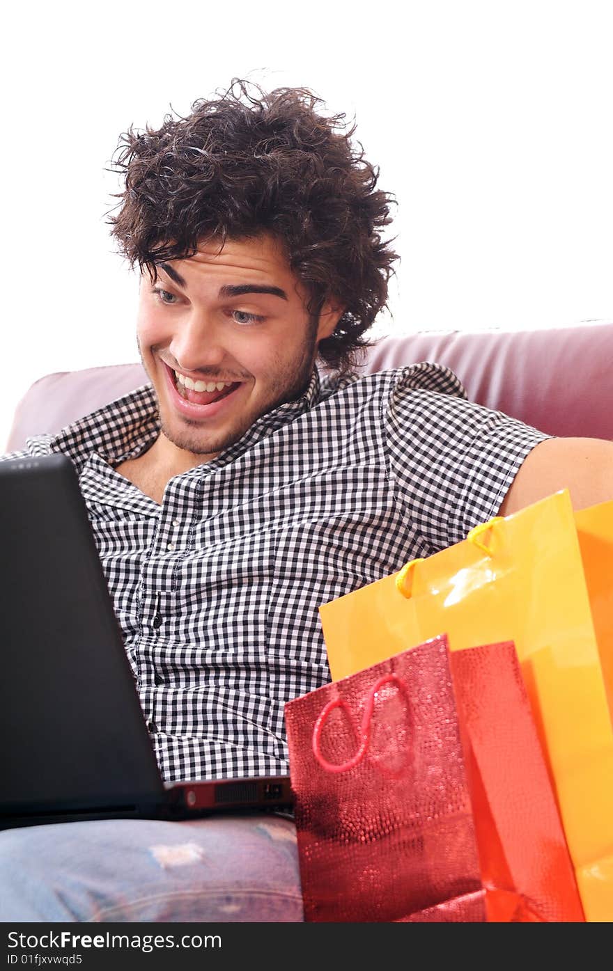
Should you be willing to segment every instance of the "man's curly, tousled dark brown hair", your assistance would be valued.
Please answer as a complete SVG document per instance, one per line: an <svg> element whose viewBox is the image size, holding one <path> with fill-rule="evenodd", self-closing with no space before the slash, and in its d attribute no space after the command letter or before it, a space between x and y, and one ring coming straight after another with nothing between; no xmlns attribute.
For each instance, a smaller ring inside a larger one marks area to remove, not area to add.
<svg viewBox="0 0 613 971"><path fill-rule="evenodd" d="M234 79L216 95L187 117L166 115L158 130L130 126L120 136L113 170L125 188L112 235L154 281L156 264L192 256L202 240L270 233L305 285L312 318L326 298L346 308L319 352L349 371L387 303L397 255L381 230L393 197L376 188L379 170L352 141L355 124L320 114L308 88L266 93Z"/></svg>

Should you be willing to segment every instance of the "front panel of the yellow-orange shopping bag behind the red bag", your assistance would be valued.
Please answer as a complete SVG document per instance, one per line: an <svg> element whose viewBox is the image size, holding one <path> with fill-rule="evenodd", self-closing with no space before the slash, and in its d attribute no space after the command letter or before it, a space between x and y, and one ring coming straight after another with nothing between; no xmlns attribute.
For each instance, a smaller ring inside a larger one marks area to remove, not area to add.
<svg viewBox="0 0 613 971"><path fill-rule="evenodd" d="M613 920L613 728L567 490L320 609L333 678L445 631L512 640L589 921Z"/></svg>

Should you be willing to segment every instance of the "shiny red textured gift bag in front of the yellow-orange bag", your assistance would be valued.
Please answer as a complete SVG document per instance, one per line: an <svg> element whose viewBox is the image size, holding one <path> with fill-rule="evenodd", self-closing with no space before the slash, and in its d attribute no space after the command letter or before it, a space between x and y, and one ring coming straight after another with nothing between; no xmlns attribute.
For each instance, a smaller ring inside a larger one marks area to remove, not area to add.
<svg viewBox="0 0 613 971"><path fill-rule="evenodd" d="M433 638L286 705L306 921L583 921L514 645Z"/></svg>

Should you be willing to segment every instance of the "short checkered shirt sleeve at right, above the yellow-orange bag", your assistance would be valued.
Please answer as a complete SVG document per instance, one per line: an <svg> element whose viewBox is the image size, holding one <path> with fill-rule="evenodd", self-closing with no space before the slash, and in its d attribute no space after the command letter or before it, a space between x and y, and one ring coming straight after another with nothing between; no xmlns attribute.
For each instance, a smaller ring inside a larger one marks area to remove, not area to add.
<svg viewBox="0 0 613 971"><path fill-rule="evenodd" d="M384 423L389 475L432 552L496 516L528 452L553 437L467 401L435 364L396 373Z"/></svg>

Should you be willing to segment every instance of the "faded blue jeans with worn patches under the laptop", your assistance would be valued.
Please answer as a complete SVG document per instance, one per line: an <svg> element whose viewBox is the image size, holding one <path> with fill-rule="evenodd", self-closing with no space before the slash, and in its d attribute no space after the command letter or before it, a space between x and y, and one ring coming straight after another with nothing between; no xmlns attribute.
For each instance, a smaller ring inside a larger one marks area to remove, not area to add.
<svg viewBox="0 0 613 971"><path fill-rule="evenodd" d="M0 832L0 921L302 921L293 822L93 820Z"/></svg>

